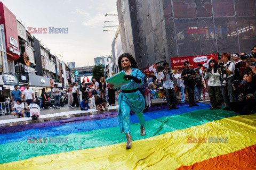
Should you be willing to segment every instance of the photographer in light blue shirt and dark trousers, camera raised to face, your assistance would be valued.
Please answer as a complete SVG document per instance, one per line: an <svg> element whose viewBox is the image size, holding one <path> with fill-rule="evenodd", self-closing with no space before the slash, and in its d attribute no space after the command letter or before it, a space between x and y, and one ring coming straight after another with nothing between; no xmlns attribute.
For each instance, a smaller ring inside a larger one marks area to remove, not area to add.
<svg viewBox="0 0 256 170"><path fill-rule="evenodd" d="M161 77L163 80L164 92L165 92L167 103L168 103L167 111L169 111L172 108L177 109L178 107L175 105L176 96L175 96L175 90L173 86L172 71L169 69L168 63L164 63L163 66L164 66L164 70L161 72Z"/></svg>

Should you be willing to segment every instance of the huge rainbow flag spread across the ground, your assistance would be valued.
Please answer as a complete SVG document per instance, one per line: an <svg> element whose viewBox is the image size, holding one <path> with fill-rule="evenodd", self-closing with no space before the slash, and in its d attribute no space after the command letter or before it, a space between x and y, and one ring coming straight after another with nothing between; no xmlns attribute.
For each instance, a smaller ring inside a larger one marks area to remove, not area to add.
<svg viewBox="0 0 256 170"><path fill-rule="evenodd" d="M180 106L131 115L125 148L117 112L0 128L0 169L256 169L256 114Z"/></svg>

